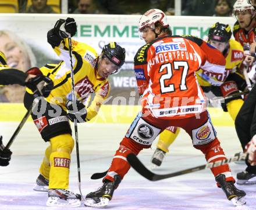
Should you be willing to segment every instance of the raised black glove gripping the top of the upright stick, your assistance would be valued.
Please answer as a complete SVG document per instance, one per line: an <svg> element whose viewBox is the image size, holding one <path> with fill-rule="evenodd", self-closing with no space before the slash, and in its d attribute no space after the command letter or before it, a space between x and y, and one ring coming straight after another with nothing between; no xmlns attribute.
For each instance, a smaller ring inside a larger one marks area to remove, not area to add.
<svg viewBox="0 0 256 210"><path fill-rule="evenodd" d="M55 23L54 29L61 38L73 37L77 31L76 21L71 17L67 17L66 20L59 19Z"/></svg>

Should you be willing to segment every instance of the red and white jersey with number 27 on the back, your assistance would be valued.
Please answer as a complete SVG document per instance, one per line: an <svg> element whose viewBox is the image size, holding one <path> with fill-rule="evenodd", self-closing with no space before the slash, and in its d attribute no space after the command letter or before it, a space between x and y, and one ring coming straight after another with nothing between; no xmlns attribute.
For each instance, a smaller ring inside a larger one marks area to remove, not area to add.
<svg viewBox="0 0 256 210"><path fill-rule="evenodd" d="M205 111L195 72L201 67L225 74L225 63L221 52L196 37L161 37L144 45L134 57L143 113L173 119Z"/></svg>

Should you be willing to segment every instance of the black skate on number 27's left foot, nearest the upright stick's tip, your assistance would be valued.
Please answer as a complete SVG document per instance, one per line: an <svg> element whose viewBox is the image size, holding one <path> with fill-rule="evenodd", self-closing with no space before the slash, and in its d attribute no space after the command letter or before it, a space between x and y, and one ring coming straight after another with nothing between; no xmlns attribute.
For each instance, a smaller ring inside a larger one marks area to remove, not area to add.
<svg viewBox="0 0 256 210"><path fill-rule="evenodd" d="M108 205L121 180L119 175L114 176L114 181L105 180L103 186L99 187L98 190L86 195L84 205L88 207L105 207Z"/></svg>

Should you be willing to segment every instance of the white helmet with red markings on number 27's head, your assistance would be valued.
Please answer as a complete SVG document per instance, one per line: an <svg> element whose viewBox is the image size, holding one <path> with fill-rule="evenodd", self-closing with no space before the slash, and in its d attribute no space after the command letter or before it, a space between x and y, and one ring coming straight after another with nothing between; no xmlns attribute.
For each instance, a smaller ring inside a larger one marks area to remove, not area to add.
<svg viewBox="0 0 256 210"><path fill-rule="evenodd" d="M160 23L165 28L169 27L169 24L167 23L167 17L165 13L160 9L150 9L145 12L138 22L138 30L141 31L145 29L145 27L155 29L155 23Z"/></svg>

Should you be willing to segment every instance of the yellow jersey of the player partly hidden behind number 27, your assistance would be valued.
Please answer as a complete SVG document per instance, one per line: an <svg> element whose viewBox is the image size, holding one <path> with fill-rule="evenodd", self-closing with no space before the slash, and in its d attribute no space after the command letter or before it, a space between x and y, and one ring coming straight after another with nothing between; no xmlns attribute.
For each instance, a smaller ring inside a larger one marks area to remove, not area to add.
<svg viewBox="0 0 256 210"><path fill-rule="evenodd" d="M226 58L225 75L218 72L207 72L204 69L200 69L196 73L200 86L221 86L227 76L229 76L230 73L236 72L243 62L243 47L236 40L229 40L229 48L224 56Z"/></svg>

